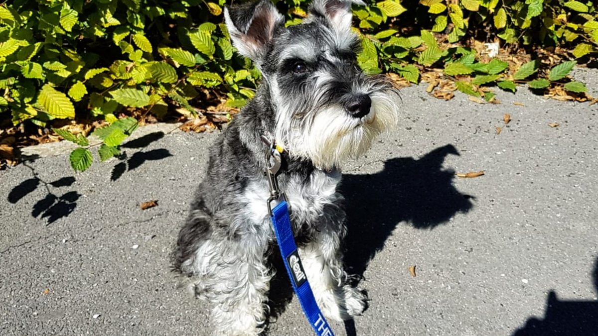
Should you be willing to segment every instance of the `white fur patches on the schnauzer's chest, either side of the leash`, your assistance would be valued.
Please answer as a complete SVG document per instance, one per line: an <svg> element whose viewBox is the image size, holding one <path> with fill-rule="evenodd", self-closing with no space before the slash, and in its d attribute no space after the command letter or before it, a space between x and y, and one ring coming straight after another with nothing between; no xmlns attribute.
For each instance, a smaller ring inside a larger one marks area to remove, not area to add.
<svg viewBox="0 0 598 336"><path fill-rule="evenodd" d="M301 222L315 222L322 215L327 204L340 198L336 188L340 182L340 172L313 172L309 178L294 176L280 184L286 200L291 207L293 217ZM246 213L255 224L270 221L266 200L270 196L266 181L257 181L248 185L243 193ZM272 204L274 206L274 204Z"/></svg>

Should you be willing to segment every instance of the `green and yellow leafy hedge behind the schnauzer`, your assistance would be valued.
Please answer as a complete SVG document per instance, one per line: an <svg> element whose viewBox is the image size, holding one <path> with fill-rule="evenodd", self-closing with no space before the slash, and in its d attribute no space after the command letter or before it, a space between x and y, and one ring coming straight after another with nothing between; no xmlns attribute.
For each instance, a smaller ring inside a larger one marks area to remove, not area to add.
<svg viewBox="0 0 598 336"><path fill-rule="evenodd" d="M0 121L46 126L78 117L114 123L119 112L160 118L173 107L195 113L191 105L200 104L206 89L242 106L260 74L233 52L222 23L225 0L206 1L0 4ZM307 5L277 3L287 25L300 23ZM475 48L456 42L499 38L530 50L559 47L566 51L560 56L582 60L598 46L598 8L590 0L385 0L353 9L366 71L395 72L417 83L420 72L441 68L472 96L483 93L480 85L514 91L517 83L539 89L565 84L575 61L550 74L538 60L513 69L499 59L481 62ZM585 86L570 82L565 90L583 93ZM488 93L482 97L492 99ZM120 142L109 142L118 149Z"/></svg>

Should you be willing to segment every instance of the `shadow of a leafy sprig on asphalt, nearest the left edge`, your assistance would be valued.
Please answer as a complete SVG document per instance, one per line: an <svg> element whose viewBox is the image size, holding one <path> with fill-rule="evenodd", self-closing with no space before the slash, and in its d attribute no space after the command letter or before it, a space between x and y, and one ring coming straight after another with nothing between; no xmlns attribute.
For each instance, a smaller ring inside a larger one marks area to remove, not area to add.
<svg viewBox="0 0 598 336"><path fill-rule="evenodd" d="M45 182L39 178L33 167L28 166L26 163L23 163L23 165L31 170L33 178L21 182L8 193L8 201L10 203L16 204L23 197L41 186L42 188L45 188L47 194L44 198L33 204L33 209L31 211L33 217L46 219L47 224L52 224L58 219L70 215L73 210L75 210L75 207L77 207L77 200L81 197L81 194L76 191L69 191L68 193L58 196L59 193L57 192L58 188L69 187L74 184L74 176L65 176L53 182Z"/></svg>

